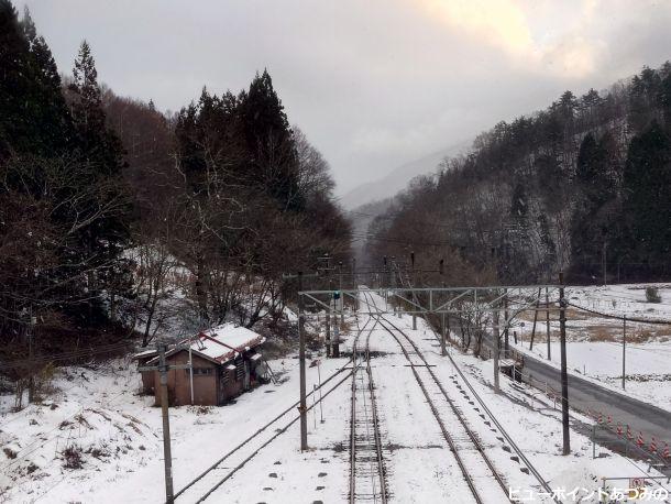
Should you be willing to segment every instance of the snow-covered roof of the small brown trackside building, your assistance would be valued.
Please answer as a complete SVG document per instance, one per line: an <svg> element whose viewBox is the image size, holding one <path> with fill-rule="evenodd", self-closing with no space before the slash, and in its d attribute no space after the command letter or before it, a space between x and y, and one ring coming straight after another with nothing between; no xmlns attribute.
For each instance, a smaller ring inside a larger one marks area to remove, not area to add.
<svg viewBox="0 0 671 504"><path fill-rule="evenodd" d="M233 359L265 341L263 336L234 324L223 324L201 331L191 340L191 350L218 362ZM188 344L188 340L185 341Z"/></svg>

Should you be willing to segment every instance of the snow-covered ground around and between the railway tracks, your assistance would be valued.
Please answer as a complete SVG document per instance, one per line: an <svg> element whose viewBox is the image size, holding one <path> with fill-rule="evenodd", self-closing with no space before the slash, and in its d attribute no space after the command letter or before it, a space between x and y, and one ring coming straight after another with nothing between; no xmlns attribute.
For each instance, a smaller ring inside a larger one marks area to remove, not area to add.
<svg viewBox="0 0 671 504"><path fill-rule="evenodd" d="M366 316L360 316L359 322L363 325ZM532 490L536 502L542 502L537 493L538 483L512 460L514 453L506 451L506 445L498 439L501 434L486 426L480 413L460 393L458 385L463 388L461 379L450 361L440 355L438 343L424 322L419 320L418 330L411 331L409 317L393 320L404 327L435 365L432 369L448 394L481 437L486 452L513 490L521 492L518 496ZM356 327L354 320L349 321ZM353 335L349 335L345 348L351 346L352 339ZM472 502L397 343L377 326L371 332L371 350L378 352L372 365L391 500L399 503ZM598 448L602 457L593 459L590 439L575 431L571 439L572 454L562 457L560 414L551 404L531 401L529 397L535 392L520 388L507 379L502 379L503 393L494 394L491 362L457 351L452 351L452 357L551 487L571 491L578 486L594 491L602 476L645 474L646 467L605 448ZM308 368L308 391L319 383L319 375L324 380L345 364L346 358L321 359L319 366ZM272 361L271 365L282 383L243 394L235 404L170 408L176 491L297 401L298 360L289 355ZM62 392L46 398L43 405L32 405L0 417L0 449L11 450L0 452L0 486L4 489L0 501L162 502L161 410L153 407L152 397L136 395L140 380L134 365L128 360L118 360L97 370L69 368L64 371L66 374L55 380ZM587 372L590 374L590 370ZM596 370L592 372L597 373ZM339 376L345 375L346 371ZM337 380L339 377L333 379L324 392ZM209 483L243 462L252 449L258 448L294 416L292 412L249 448L228 459L215 471L202 492L209 489ZM318 406L309 413L309 451L299 451L299 429L295 423L216 490L208 502L346 502L349 417L350 381L346 380L326 397L322 410ZM576 418L590 421L578 415ZM66 447L78 448L75 451L81 454L80 469L66 467ZM177 502L194 502L196 496L197 492L185 494ZM485 502L498 503L502 502L499 497ZM597 502L597 498L583 502Z"/></svg>

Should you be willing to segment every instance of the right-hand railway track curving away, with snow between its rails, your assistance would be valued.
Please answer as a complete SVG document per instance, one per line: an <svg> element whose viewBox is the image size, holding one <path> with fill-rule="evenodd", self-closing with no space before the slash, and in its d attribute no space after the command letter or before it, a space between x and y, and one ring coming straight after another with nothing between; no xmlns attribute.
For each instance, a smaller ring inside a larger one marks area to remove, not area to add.
<svg viewBox="0 0 671 504"><path fill-rule="evenodd" d="M370 298L370 302L372 306L376 307L372 297ZM469 427L463 414L457 407L454 402L449 397L444 387L440 383L440 380L429 366L428 361L417 344L402 329L387 320L384 315L378 315L376 319L378 324L394 338L394 340L396 340L403 354L410 364L410 370L413 371L415 380L421 388L427 404L430 407L438 426L440 427L441 434L447 441L475 502L479 504L485 502L483 500L483 490L488 490L487 495L492 495L494 492L499 494L503 493L497 502L515 502L509 496L508 485L506 484L503 475L496 470L492 463L492 460L486 456L482 442L475 432L473 432L473 430ZM413 352L421 361L421 364L414 362L413 358L410 357L410 352ZM426 371L428 379L426 374L422 377L419 370L421 370L421 374L424 374ZM439 407L436 404L433 397L439 395L442 395L446 403L449 405L449 408ZM446 425L450 426L450 430L448 430ZM464 443L464 440L468 440L468 442ZM474 475L473 472L476 470L476 468L481 467L481 461L485 462L487 470L485 473ZM477 479L477 481L475 481L475 479ZM493 482L496 483L492 485ZM494 486L494 489L488 486Z"/></svg>

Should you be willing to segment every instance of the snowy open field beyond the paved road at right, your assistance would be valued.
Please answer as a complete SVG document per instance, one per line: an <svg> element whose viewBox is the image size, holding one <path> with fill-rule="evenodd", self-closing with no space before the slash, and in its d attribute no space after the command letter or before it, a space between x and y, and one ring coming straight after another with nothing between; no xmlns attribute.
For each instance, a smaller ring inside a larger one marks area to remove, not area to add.
<svg viewBox="0 0 671 504"><path fill-rule="evenodd" d="M651 285L657 285L661 303L646 302L646 286L638 284L566 288L566 298L573 305L620 317L605 318L570 307L566 315L566 362L570 373L671 410L671 287L668 284ZM625 328L622 317L669 321L669 325L626 322L625 391L622 390ZM532 318L526 314L524 327L518 322L513 328L521 337L516 346L518 350L529 352ZM550 335L551 362L559 368L557 314L551 315ZM546 315L542 311L535 340L531 353L547 359ZM510 342L514 344L512 336Z"/></svg>

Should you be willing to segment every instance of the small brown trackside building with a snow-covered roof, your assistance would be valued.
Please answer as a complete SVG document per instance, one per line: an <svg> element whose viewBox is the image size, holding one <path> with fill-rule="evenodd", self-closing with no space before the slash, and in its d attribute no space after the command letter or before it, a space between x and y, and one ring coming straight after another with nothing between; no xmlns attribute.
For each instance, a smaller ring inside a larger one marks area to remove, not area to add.
<svg viewBox="0 0 671 504"><path fill-rule="evenodd" d="M168 371L170 406L219 406L265 381L266 369L257 351L265 338L244 327L224 324L180 341L166 352L167 364L187 369ZM154 352L135 355L139 365L156 365ZM143 371L145 393L153 393L161 404L161 382L157 371Z"/></svg>

